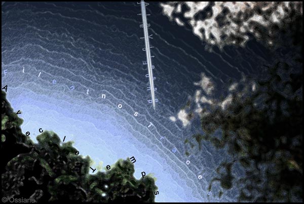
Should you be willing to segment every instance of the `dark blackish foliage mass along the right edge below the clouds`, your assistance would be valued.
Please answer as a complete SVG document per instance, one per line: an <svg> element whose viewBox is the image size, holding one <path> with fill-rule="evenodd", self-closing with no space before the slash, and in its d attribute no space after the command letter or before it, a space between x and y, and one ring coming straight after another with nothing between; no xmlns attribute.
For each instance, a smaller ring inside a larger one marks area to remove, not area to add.
<svg viewBox="0 0 304 204"><path fill-rule="evenodd" d="M291 70L278 62L253 94L247 92L250 85L244 84L243 92L233 94L225 110L214 108L201 118L206 132L201 137L215 147L228 146L234 161L245 167L246 177L239 180L244 184L240 201L302 199L302 71ZM288 80L280 76L284 74ZM213 137L217 129L222 130L220 139ZM225 189L235 182L230 169L233 163L222 163L226 173L213 179Z"/></svg>

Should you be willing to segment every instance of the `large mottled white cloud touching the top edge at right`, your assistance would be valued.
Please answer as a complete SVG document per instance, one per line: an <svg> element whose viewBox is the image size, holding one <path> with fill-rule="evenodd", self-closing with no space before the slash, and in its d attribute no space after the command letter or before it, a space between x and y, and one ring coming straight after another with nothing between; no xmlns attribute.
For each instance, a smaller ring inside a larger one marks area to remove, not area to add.
<svg viewBox="0 0 304 204"><path fill-rule="evenodd" d="M194 35L219 48L244 46L248 32L260 38L258 26L280 24L292 12L302 15L302 2L167 2L160 6L171 21L190 26ZM268 34L272 35L270 29Z"/></svg>

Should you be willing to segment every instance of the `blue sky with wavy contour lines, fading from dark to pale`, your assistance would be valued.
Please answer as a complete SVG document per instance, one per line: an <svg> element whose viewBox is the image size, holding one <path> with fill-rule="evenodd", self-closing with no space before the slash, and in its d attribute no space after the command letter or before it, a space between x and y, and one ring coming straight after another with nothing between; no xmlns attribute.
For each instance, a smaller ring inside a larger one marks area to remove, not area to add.
<svg viewBox="0 0 304 204"><path fill-rule="evenodd" d="M211 77L216 85L212 94L219 95L229 79L254 75L259 64L271 60L265 48L251 40L245 48L208 52L190 29L170 22L158 3L150 3L159 99L154 111L147 103L150 92L136 2L2 4L2 86L8 85L12 107L22 112L24 133L30 131L34 141L39 128L56 132L62 140L66 136L65 142L74 141L80 154L89 155L91 166L101 171L134 156L135 177L144 171L157 179L158 202L219 201L207 195L208 184L226 153L204 143L198 154L186 157L184 140L201 131L199 123L183 127L169 117L194 95L201 73ZM148 128L150 122L154 126ZM191 163L186 165L186 160ZM243 173L234 169L234 174ZM237 192L224 192L220 201L236 201Z"/></svg>

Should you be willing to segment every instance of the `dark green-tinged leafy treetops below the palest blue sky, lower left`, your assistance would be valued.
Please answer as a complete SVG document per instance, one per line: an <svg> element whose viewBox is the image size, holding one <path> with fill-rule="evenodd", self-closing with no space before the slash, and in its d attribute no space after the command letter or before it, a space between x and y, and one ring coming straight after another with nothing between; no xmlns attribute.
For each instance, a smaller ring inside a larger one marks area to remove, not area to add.
<svg viewBox="0 0 304 204"><path fill-rule="evenodd" d="M106 173L89 174L90 158L75 155L71 142L60 145L54 132L44 131L34 144L22 134L22 119L2 91L2 196L39 202L153 202L155 181L136 180L134 165L119 160ZM18 156L17 156L18 155Z"/></svg>

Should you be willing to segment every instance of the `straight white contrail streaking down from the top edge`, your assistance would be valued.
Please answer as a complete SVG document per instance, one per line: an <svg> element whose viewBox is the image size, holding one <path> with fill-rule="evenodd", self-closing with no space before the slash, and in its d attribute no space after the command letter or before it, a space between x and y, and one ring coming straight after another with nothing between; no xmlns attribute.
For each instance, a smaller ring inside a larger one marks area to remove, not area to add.
<svg viewBox="0 0 304 204"><path fill-rule="evenodd" d="M153 72L152 72L152 67L151 67L152 63L151 63L151 54L150 54L149 33L148 33L148 26L147 26L147 16L146 16L146 11L145 11L145 2L143 0L141 1L141 16L142 16L145 51L146 51L146 57L147 57L149 83L150 83L150 89L151 89L151 98L152 98L153 108L155 110L155 94L154 94Z"/></svg>

